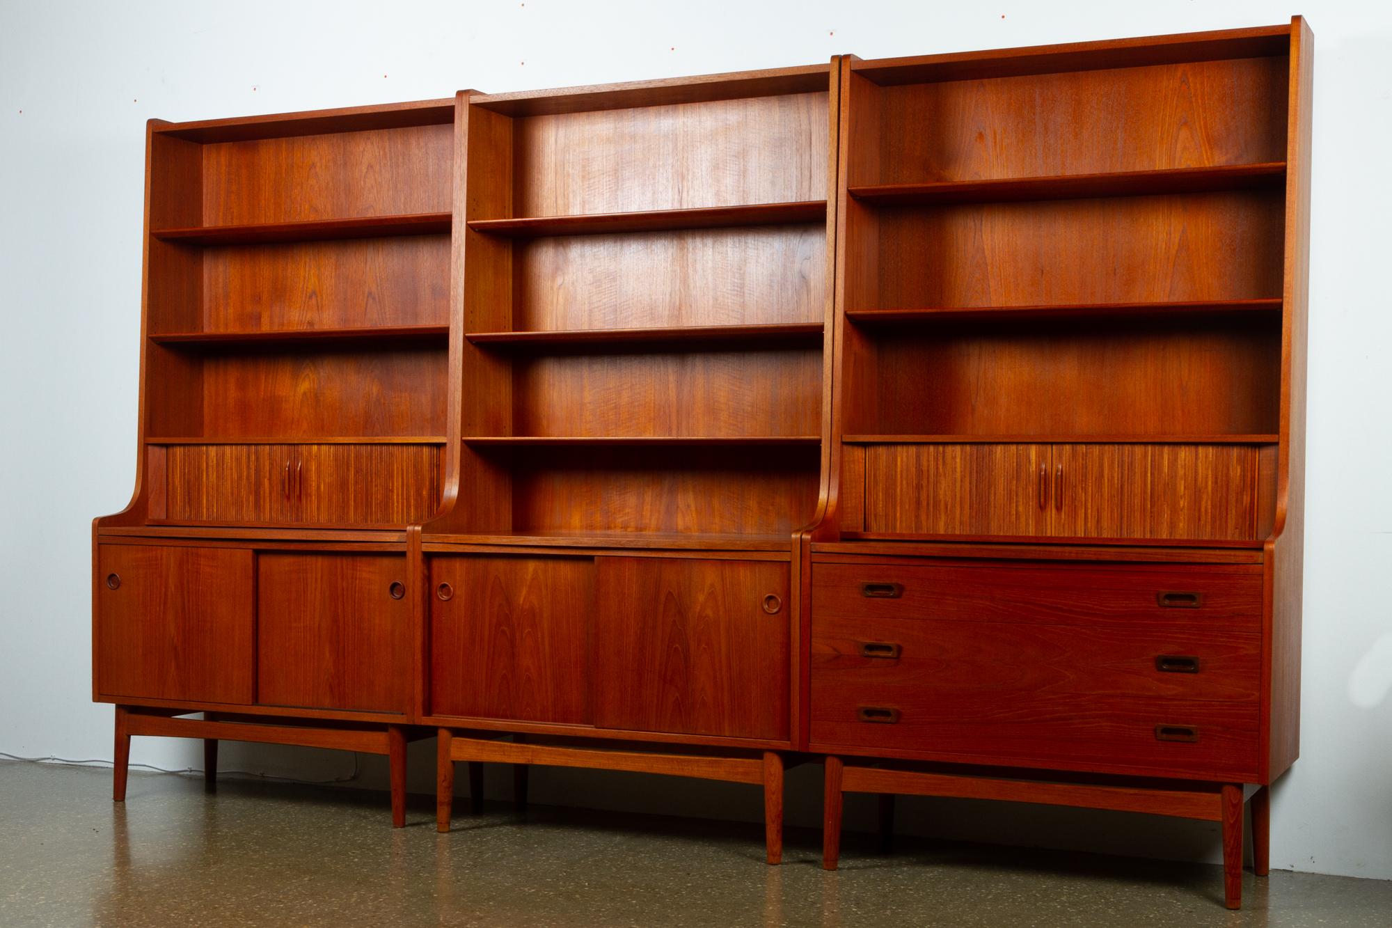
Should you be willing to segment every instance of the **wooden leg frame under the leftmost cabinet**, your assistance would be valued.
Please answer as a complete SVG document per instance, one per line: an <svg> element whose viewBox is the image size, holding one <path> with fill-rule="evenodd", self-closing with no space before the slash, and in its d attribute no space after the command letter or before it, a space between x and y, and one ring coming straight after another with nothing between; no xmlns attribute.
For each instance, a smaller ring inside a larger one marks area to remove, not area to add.
<svg viewBox="0 0 1392 928"><path fill-rule="evenodd" d="M152 709L145 706L116 706L116 765L111 798L125 801L125 780L131 759L131 737L152 736L166 738L203 740L203 779L217 783L217 743L255 741L260 744L294 744L359 754L380 754L391 771L391 825L406 823L406 743L427 737L427 733L404 725L354 725L347 722L303 720L294 718L205 712L202 719L182 718L198 709Z"/></svg>

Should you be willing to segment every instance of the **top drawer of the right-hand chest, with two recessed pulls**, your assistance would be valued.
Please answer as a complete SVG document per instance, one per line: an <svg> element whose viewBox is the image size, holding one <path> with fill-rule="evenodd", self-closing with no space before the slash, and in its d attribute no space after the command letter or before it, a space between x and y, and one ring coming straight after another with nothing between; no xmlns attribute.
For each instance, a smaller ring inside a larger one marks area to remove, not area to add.
<svg viewBox="0 0 1392 928"><path fill-rule="evenodd" d="M817 617L1261 630L1258 566L818 563Z"/></svg>

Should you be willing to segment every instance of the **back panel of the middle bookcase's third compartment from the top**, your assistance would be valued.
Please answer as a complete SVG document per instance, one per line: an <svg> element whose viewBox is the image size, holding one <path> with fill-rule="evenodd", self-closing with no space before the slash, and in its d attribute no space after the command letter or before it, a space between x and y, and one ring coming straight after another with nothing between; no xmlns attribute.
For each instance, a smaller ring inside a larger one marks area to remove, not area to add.
<svg viewBox="0 0 1392 928"><path fill-rule="evenodd" d="M618 351L519 358L516 435L816 436L821 351Z"/></svg>

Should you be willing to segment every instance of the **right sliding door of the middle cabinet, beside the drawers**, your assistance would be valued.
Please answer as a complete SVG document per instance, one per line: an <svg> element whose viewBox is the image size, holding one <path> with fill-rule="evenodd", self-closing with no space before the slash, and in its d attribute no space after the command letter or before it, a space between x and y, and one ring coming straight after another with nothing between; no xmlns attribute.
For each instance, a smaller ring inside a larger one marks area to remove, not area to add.
<svg viewBox="0 0 1392 928"><path fill-rule="evenodd" d="M788 737L788 564L597 557L594 723Z"/></svg>

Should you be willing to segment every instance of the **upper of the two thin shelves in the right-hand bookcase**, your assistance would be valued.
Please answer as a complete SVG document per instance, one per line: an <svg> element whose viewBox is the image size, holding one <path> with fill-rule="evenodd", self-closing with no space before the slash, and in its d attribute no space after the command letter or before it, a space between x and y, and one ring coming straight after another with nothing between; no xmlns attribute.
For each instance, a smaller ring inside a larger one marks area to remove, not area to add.
<svg viewBox="0 0 1392 928"><path fill-rule="evenodd" d="M1214 190L1279 187L1285 162L1214 164L1105 174L1052 174L992 180L933 181L926 184L869 184L848 192L867 203L933 206L938 203L991 203L1027 199L1079 199L1089 196L1143 196L1194 194Z"/></svg>

